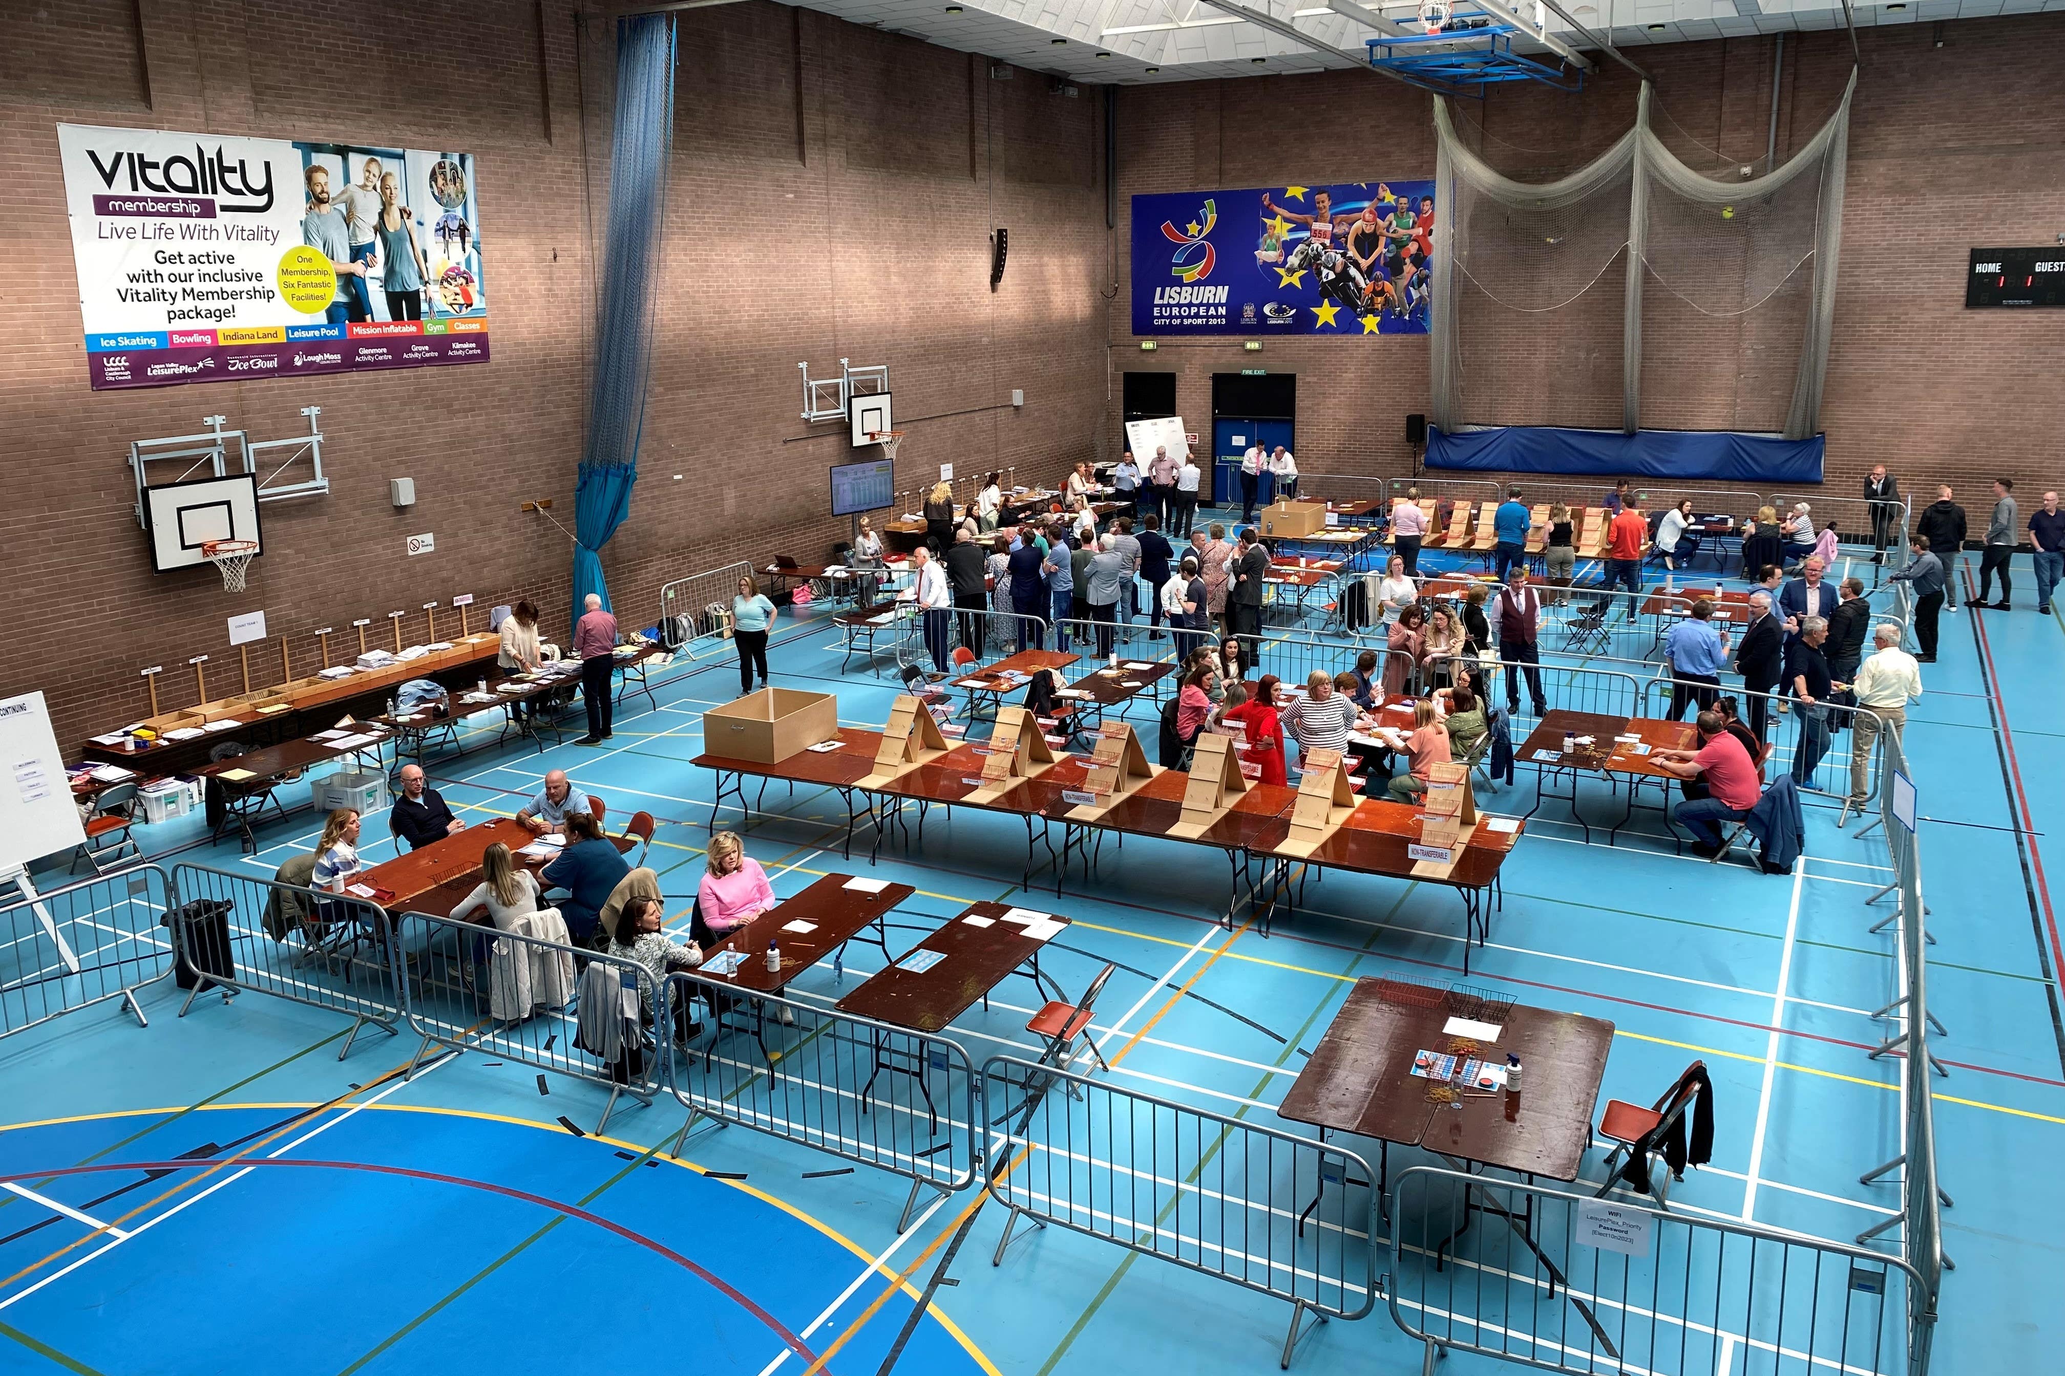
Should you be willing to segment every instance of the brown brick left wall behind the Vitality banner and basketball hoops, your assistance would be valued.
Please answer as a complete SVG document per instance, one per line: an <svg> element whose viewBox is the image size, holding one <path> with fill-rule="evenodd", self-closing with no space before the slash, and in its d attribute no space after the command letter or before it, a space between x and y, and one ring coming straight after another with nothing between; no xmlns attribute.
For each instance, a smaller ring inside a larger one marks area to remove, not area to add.
<svg viewBox="0 0 2065 1376"><path fill-rule="evenodd" d="M254 683L316 666L320 625L473 592L535 598L564 633L589 400L595 241L607 206L613 37L564 0L0 0L0 540L17 646L0 693L43 689L74 743L161 701L242 687L225 619L264 609ZM427 43L442 35L446 41ZM797 361L886 363L911 429L898 489L935 464L1059 470L1105 406L1097 101L991 83L966 54L776 4L681 17L667 276L632 518L605 551L628 623L665 578L776 549L822 555L840 427L799 419ZM87 388L56 124L124 124L471 151L494 361L349 378ZM989 225L1012 229L989 291ZM1026 392L1022 411L1012 388ZM211 569L153 576L130 439L227 415L252 437L322 406L330 495L264 507L242 596ZM836 429L836 433L834 433ZM673 474L681 474L673 481ZM388 505L413 477L417 505ZM409 559L405 536L436 532ZM438 629L456 629L440 617ZM64 654L58 656L56 650ZM332 637L355 652L355 637Z"/></svg>

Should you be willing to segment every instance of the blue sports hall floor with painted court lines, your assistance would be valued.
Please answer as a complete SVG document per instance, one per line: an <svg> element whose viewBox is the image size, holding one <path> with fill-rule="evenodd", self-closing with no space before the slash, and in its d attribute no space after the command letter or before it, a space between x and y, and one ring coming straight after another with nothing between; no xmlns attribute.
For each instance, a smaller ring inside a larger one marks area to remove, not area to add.
<svg viewBox="0 0 2065 1376"><path fill-rule="evenodd" d="M2065 823L2065 625L2032 611L1980 617L1945 617L1906 734L1937 937L1929 994L1945 1025L1933 1046L1949 1071L1929 1089L1956 1201L1937 1333L1937 1370L1951 1376L2051 1370L2057 1326L2030 1296L2065 1277L2065 1209L2044 1170L2065 1145L2065 1036L2042 871ZM843 722L880 726L894 664L840 677L838 662L824 613L783 615L774 683L836 689ZM655 813L653 864L679 926L712 796L688 761L702 712L733 685L729 660L681 662L657 710L624 708L611 749L483 743L430 772L465 817L514 811L549 767L603 794L611 819ZM1134 722L1152 732L1146 710ZM1481 794L1491 813L1530 805L1526 774L1518 790ZM975 899L1066 912L1074 926L1043 957L1061 988L1119 965L1094 1023L1113 1083L1241 1122L1295 1126L1274 1106L1357 978L1462 976L1460 906L1437 887L1328 877L1264 937L1253 914L1231 930L1216 922L1225 864L1175 844L1107 846L1094 885L1078 871L1055 897L1049 873L1026 897L1014 819L933 811L923 846L898 838L869 869L865 827L853 860L838 856L834 794L774 786L764 809L745 842L776 893L834 871L917 887L892 943L915 945ZM1898 1186L1858 1182L1900 1151L1906 1083L1898 1058L1869 1058L1889 1027L1875 1013L1894 996L1892 937L1871 932L1887 908L1865 904L1892 879L1877 831L1861 838L1854 817L1838 827L1836 811L1809 809L1803 864L1761 875L1671 854L1654 819L1607 848L1557 815L1543 809L1507 862L1470 982L1611 1019L1602 1100L1648 1104L1706 1060L1714 1159L1675 1186L1673 1209L1842 1242L1889 1217ZM737 811L719 821L737 825ZM151 831L153 848L196 840ZM271 877L314 831L301 815L273 825L256 856L223 846L180 858ZM384 817L370 817L370 860L392 854L382 833ZM832 1003L876 968L878 951L853 947L843 982L820 965L801 996ZM907 1186L869 1168L803 1178L843 1164L708 1124L675 1164L665 1153L684 1112L667 1097L620 1108L607 1139L576 1137L560 1118L593 1128L599 1087L547 1079L541 1091L533 1071L481 1054L403 1081L415 1038L361 1031L339 1062L347 1023L330 1013L244 994L200 998L182 1019L180 996L169 982L149 990L149 1029L105 1007L0 1042L0 1174L29 1192L0 1197L4 1370L876 1372L981 1199L921 1199L898 1236ZM1010 980L952 1036L977 1064L1032 1056L1035 1011L1032 986ZM1375 1143L1344 1145L1375 1155ZM1602 1157L1586 1161L1594 1186ZM1392 1151L1390 1164L1429 1159ZM983 1207L948 1271L956 1285L938 1291L896 1370L1274 1370L1282 1302L1059 1227L1020 1225L991 1267L999 1234L1002 1211ZM1379 1302L1361 1322L1313 1331L1295 1370L1417 1370L1419 1351ZM1735 1370L1770 1362L1745 1347ZM1448 1366L1493 1370L1466 1355Z"/></svg>

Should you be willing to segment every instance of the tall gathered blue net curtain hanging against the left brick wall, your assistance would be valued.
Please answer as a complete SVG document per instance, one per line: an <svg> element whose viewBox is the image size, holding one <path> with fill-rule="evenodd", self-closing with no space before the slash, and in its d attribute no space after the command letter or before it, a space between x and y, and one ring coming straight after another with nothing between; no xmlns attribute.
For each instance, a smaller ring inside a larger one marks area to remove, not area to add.
<svg viewBox="0 0 2065 1376"><path fill-rule="evenodd" d="M601 549L632 512L638 439L653 369L667 163L673 155L673 17L617 21L617 116L609 151L609 225L595 322L589 437L574 483L574 621L591 592L609 607Z"/></svg>

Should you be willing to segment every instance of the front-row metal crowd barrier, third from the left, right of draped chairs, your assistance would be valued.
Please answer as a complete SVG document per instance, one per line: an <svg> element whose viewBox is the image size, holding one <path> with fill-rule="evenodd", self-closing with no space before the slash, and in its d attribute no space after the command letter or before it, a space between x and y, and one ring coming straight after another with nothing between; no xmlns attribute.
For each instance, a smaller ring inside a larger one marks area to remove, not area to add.
<svg viewBox="0 0 2065 1376"><path fill-rule="evenodd" d="M898 1234L921 1188L975 1184L975 1067L958 1042L712 976L669 976L661 1027L698 1019L700 1040L663 1038L667 1083L688 1108L675 1155L702 1116L873 1166L911 1182Z"/></svg>

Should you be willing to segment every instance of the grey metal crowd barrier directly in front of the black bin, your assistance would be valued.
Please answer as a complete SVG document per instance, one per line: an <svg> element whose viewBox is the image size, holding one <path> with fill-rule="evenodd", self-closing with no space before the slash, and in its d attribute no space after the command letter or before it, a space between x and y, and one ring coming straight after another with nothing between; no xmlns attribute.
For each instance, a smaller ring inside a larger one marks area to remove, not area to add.
<svg viewBox="0 0 2065 1376"><path fill-rule="evenodd" d="M211 990L268 994L351 1019L343 1060L372 1023L399 1036L399 951L386 912L347 893L318 893L200 864L171 871L180 963L194 972L180 1017Z"/></svg>

